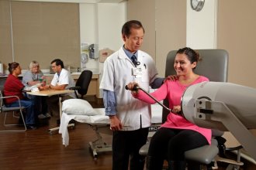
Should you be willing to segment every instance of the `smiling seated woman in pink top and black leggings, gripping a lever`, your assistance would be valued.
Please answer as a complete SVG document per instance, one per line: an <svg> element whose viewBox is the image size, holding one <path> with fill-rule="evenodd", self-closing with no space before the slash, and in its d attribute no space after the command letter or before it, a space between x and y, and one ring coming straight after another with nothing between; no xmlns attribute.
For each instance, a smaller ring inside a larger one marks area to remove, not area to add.
<svg viewBox="0 0 256 170"><path fill-rule="evenodd" d="M164 159L167 159L168 169L185 170L185 151L210 145L212 136L210 129L200 128L178 114L181 111L181 98L185 89L192 84L209 81L205 76L193 72L199 60L199 53L193 49L188 47L178 49L174 64L178 78L167 80L154 93L150 93L157 100L167 98L172 112L168 114L167 121L161 125L150 141L147 169L162 169ZM138 84L135 82L128 84L130 90L134 86ZM132 91L132 94L133 97L149 104L155 103L142 90ZM192 169L195 169L195 166Z"/></svg>

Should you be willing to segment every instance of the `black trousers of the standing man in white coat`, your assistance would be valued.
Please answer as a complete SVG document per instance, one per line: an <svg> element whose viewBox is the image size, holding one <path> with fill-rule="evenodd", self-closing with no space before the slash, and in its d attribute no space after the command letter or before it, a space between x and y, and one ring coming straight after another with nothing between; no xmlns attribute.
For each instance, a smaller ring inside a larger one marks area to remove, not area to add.
<svg viewBox="0 0 256 170"><path fill-rule="evenodd" d="M112 170L143 170L145 157L139 154L147 142L148 128L135 131L114 131L112 137Z"/></svg>

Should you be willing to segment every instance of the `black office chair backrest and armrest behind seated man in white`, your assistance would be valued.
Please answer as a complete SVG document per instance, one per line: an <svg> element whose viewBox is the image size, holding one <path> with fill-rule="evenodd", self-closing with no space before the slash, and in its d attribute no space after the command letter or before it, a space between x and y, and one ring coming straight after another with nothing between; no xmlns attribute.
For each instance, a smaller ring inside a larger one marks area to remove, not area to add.
<svg viewBox="0 0 256 170"><path fill-rule="evenodd" d="M89 84L92 80L92 71L84 70L81 72L78 77L77 82L75 83L75 87L71 87L70 90L74 90L75 96L77 98L83 98L88 91ZM78 95L80 94L80 97Z"/></svg>

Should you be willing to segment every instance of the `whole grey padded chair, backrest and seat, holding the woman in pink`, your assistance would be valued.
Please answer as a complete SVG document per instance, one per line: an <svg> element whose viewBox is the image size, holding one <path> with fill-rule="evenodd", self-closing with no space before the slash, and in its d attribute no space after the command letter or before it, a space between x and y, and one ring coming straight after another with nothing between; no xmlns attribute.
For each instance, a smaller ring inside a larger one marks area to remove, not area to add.
<svg viewBox="0 0 256 170"><path fill-rule="evenodd" d="M202 61L199 62L195 68L195 73L206 76L210 81L227 82L228 71L228 53L223 49L199 49L196 50ZM176 56L176 50L168 53L166 59L165 76L176 75L174 69L174 62ZM168 107L168 100L164 100L164 105ZM166 121L168 110L163 109L162 122ZM222 131L212 130L213 136L221 136ZM224 141L223 141L224 143ZM140 148L140 155L147 155L149 144L147 143ZM223 146L224 147L224 146ZM223 148L225 150L225 148ZM195 148L185 152L185 158L189 162L199 162L202 165L208 165L208 169L211 169L214 158L219 153L218 141L215 138L212 139L212 145L205 145L200 148ZM216 162L215 162L216 163ZM236 163L236 162L230 162ZM238 163L238 165L242 165ZM216 166L216 164L214 165Z"/></svg>

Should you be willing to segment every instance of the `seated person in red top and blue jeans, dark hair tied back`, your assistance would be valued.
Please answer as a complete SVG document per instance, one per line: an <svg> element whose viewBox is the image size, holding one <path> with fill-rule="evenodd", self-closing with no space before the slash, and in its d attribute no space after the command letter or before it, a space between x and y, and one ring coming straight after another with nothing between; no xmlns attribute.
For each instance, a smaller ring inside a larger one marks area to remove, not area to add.
<svg viewBox="0 0 256 170"><path fill-rule="evenodd" d="M36 115L34 112L34 102L24 97L22 90L24 85L19 80L18 76L21 73L21 68L19 63L9 63L9 76L5 81L4 85L4 96L18 96L20 99L20 104L26 107L26 127L29 129L36 129ZM18 107L19 100L16 97L10 97L5 99L6 107Z"/></svg>

